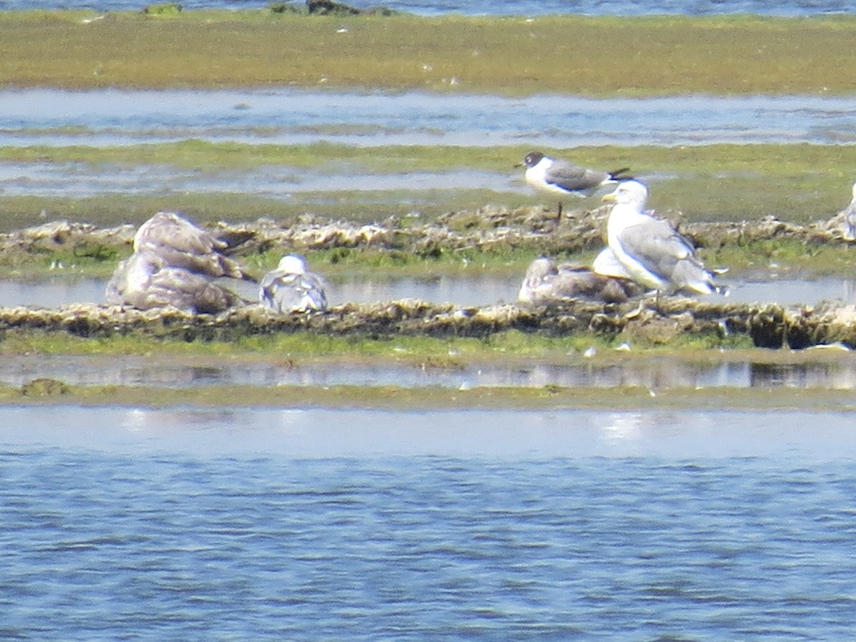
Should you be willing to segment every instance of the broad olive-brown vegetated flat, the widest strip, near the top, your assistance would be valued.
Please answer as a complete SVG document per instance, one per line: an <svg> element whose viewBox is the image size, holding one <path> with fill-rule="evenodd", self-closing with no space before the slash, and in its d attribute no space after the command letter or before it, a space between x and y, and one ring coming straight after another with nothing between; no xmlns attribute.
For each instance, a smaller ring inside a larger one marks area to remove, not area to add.
<svg viewBox="0 0 856 642"><path fill-rule="evenodd" d="M856 17L0 14L0 85L849 94ZM834 61L830 63L830 61Z"/></svg>

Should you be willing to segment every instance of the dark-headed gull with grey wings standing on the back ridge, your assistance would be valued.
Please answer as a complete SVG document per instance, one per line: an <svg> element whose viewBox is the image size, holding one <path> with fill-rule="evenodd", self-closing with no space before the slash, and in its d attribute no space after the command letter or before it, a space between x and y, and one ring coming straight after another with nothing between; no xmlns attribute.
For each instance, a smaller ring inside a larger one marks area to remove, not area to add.
<svg viewBox="0 0 856 642"><path fill-rule="evenodd" d="M523 159L526 166L526 182L539 192L574 195L580 198L592 196L600 187L627 180L627 167L614 172L580 167L565 160L544 156L541 152L529 152ZM520 165L518 165L520 167ZM559 201L559 217L562 217L562 201Z"/></svg>

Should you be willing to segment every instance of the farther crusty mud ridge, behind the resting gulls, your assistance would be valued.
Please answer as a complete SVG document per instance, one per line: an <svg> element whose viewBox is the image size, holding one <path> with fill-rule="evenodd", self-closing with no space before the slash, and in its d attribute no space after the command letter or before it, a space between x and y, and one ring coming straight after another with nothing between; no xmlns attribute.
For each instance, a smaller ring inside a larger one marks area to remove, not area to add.
<svg viewBox="0 0 856 642"><path fill-rule="evenodd" d="M450 212L433 223L393 218L383 223L333 221L300 217L291 223L259 219L253 223L208 226L229 243L232 253L247 254L281 248L283 253L336 247L372 248L430 256L444 250L474 247L533 247L540 253L575 253L603 246L607 208L566 213L558 220L544 207L510 210L488 206L478 211ZM805 242L841 241L841 222L811 225L785 223L774 217L735 223L687 223L681 232L697 247L724 247L773 238ZM99 248L122 250L134 238L133 225L98 229L87 223L56 221L0 235L0 254L48 253L72 249L97 253Z"/></svg>

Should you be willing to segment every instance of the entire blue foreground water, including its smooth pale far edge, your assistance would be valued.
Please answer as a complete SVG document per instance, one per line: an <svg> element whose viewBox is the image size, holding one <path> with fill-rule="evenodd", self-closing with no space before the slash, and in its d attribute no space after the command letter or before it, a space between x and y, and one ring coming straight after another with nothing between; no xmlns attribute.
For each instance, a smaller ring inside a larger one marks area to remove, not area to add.
<svg viewBox="0 0 856 642"><path fill-rule="evenodd" d="M4 639L856 627L852 413L6 407L0 421Z"/></svg>

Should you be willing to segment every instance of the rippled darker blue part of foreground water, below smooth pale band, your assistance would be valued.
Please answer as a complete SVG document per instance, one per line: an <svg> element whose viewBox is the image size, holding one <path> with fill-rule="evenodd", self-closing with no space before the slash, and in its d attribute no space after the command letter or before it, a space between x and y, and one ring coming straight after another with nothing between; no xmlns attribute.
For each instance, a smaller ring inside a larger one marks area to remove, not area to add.
<svg viewBox="0 0 856 642"><path fill-rule="evenodd" d="M0 479L27 489L0 504L8 638L845 639L856 625L856 476L835 456L7 445Z"/></svg>

